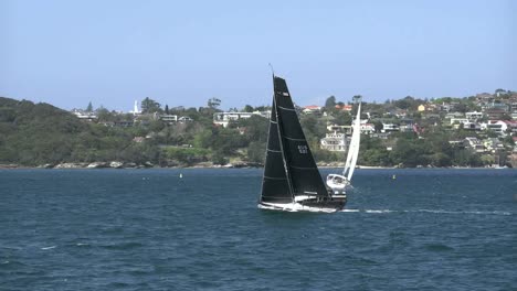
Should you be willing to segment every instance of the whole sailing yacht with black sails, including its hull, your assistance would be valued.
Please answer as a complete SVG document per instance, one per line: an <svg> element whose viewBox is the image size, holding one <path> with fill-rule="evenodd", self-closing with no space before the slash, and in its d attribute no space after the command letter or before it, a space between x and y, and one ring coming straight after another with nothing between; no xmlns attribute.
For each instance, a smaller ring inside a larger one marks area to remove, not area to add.
<svg viewBox="0 0 517 291"><path fill-rule="evenodd" d="M342 209L347 196L325 186L285 79L273 75L273 88L258 208L327 213Z"/></svg>

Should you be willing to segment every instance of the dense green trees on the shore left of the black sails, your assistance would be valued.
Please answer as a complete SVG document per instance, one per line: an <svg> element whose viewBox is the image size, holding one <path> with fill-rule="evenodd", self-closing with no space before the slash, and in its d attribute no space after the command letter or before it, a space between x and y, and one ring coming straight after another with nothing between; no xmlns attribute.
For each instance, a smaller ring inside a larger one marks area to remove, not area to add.
<svg viewBox="0 0 517 291"><path fill-rule="evenodd" d="M0 97L0 164L41 165L63 162L152 163L162 166L231 160L262 163L267 120L253 116L228 128L212 123L215 104L199 109L171 109L191 122L168 125L154 115L163 112L152 100L130 127L130 115L96 110L98 122L84 122L48 104ZM88 105L91 107L91 105ZM89 109L89 108L88 108Z"/></svg>

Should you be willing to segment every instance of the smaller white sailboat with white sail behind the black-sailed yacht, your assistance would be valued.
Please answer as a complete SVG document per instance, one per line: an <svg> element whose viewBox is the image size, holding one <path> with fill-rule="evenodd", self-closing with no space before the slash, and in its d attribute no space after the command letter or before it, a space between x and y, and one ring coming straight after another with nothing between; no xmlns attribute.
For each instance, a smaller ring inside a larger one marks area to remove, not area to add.
<svg viewBox="0 0 517 291"><path fill-rule="evenodd" d="M329 186L334 193L340 194L345 192L345 188L350 185L354 171L356 170L357 158L359 157L359 144L361 142L361 100L358 98L359 106L357 108L357 115L355 121L352 121L352 137L348 147L347 160L345 161L345 168L342 174L329 174L327 175L327 186ZM346 136L345 136L346 139Z"/></svg>

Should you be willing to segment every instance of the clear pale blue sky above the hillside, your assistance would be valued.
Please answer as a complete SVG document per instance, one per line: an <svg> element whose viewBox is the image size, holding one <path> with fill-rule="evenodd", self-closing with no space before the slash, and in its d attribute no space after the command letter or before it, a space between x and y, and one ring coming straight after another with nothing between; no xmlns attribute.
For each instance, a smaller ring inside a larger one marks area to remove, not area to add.
<svg viewBox="0 0 517 291"><path fill-rule="evenodd" d="M517 90L517 1L0 0L0 96L128 111Z"/></svg>

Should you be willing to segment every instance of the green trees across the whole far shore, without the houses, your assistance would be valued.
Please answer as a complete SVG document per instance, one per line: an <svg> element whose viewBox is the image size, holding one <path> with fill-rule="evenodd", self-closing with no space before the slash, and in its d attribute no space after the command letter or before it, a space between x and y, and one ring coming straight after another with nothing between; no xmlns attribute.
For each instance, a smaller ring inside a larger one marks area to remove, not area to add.
<svg viewBox="0 0 517 291"><path fill-rule="evenodd" d="M468 99L458 99L462 108L476 109ZM225 164L234 162L263 163L268 121L261 116L232 121L226 128L213 125L213 114L221 100L212 98L207 107L169 108L150 98L143 101L144 115L122 115L106 108L95 110L97 122L85 122L68 111L48 104L33 104L0 97L0 164L41 165L63 162L110 162L156 164L161 166L198 163ZM405 97L386 104L363 104L365 112L386 115L391 109L414 110L425 100ZM342 152L321 150L320 139L328 123L350 125L351 112L338 110L329 97L326 115L299 115L302 127L318 162L342 162ZM268 110L250 105L242 111ZM88 104L87 110L93 107ZM236 109L234 109L236 110ZM436 126L432 118L409 111L420 127L414 132L391 133L389 139L362 136L359 164L380 166L481 166L494 163L493 154L476 154L451 140L475 133L460 128L451 130ZM157 114L189 117L192 121L167 123ZM366 116L363 118L367 118ZM117 126L130 122L130 126ZM373 121L376 131L382 125ZM505 141L513 144L511 137Z"/></svg>

